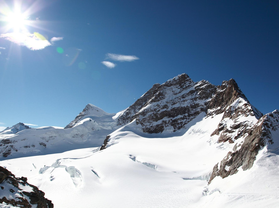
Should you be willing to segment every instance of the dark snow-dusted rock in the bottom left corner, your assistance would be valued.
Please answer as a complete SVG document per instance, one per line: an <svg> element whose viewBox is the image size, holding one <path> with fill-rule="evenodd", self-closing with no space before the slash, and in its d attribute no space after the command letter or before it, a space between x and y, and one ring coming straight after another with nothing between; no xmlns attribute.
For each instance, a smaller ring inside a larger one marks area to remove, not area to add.
<svg viewBox="0 0 279 208"><path fill-rule="evenodd" d="M0 166L0 203L5 202L18 207L31 208L37 204L38 208L53 208L50 200L44 197L45 193L36 186L28 184L27 178L16 178L10 171ZM26 191L30 190L32 191Z"/></svg>

